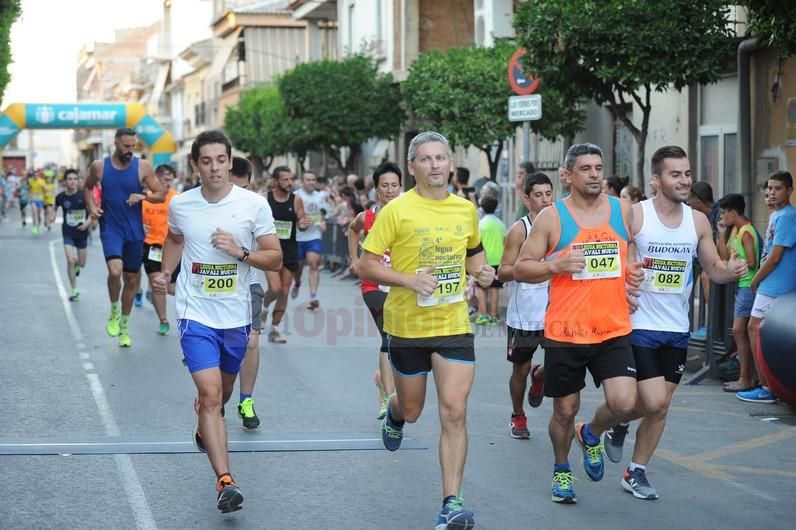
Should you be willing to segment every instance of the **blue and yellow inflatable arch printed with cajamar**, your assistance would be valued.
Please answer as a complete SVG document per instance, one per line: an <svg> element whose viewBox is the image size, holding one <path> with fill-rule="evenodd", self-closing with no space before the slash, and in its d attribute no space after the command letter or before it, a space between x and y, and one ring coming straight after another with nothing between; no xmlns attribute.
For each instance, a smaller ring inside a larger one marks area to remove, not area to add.
<svg viewBox="0 0 796 530"><path fill-rule="evenodd" d="M152 165L171 160L176 145L140 103L12 103L0 114L0 149L22 129L135 129Z"/></svg>

